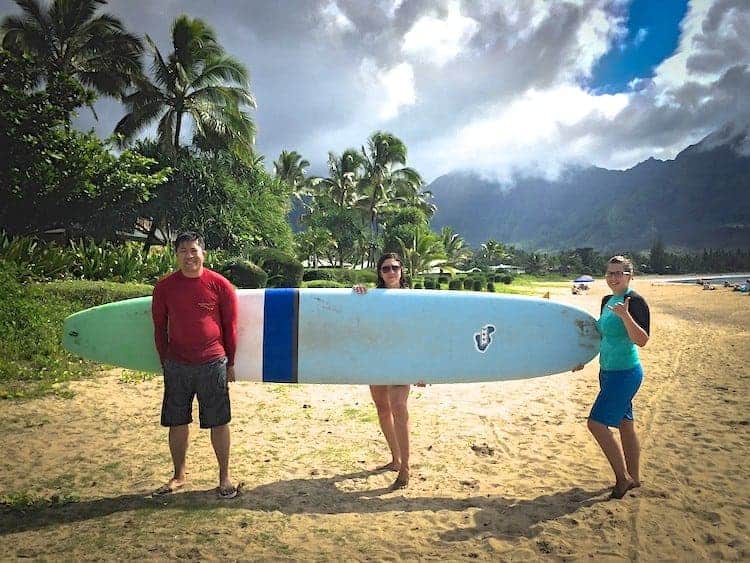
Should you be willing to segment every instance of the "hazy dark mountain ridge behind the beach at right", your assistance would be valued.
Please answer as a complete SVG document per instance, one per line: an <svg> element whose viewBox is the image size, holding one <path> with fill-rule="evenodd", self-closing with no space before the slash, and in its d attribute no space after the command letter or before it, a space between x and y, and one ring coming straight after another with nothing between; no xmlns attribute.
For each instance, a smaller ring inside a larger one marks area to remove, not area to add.
<svg viewBox="0 0 750 563"><path fill-rule="evenodd" d="M674 160L628 170L571 168L556 181L517 178L510 187L454 172L429 189L433 227L451 225L474 246L492 238L623 251L661 237L672 247L750 248L750 129L727 126Z"/></svg>

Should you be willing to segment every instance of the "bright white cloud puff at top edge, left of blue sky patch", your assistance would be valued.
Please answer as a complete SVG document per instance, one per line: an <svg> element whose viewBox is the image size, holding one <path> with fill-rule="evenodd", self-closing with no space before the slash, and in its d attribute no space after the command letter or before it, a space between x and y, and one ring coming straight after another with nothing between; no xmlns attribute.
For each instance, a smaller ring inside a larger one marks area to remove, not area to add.
<svg viewBox="0 0 750 563"><path fill-rule="evenodd" d="M478 29L475 20L461 15L458 2L451 2L445 19L426 15L415 22L404 35L401 52L442 66L466 51Z"/></svg>

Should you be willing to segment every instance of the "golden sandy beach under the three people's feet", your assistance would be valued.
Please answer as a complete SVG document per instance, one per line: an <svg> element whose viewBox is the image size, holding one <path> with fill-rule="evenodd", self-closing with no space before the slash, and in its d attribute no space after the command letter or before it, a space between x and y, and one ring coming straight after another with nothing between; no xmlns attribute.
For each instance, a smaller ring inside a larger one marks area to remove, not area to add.
<svg viewBox="0 0 750 563"><path fill-rule="evenodd" d="M412 481L397 492L392 473L372 471L388 458L366 387L236 384L232 467L245 487L231 501L217 498L197 423L189 486L148 496L171 470L161 380L109 372L74 382L72 399L3 404L0 494L52 506L0 508L0 557L748 560L750 297L633 287L652 338L635 401L643 487L621 501L607 498L613 479L586 430L596 360L575 374L413 388ZM549 289L595 315L606 290Z"/></svg>

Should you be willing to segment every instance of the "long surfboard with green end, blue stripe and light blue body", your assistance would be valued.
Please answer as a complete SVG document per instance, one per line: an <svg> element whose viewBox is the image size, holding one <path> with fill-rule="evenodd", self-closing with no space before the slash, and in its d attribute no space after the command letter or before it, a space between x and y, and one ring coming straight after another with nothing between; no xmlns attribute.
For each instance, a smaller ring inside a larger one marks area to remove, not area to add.
<svg viewBox="0 0 750 563"><path fill-rule="evenodd" d="M238 380L406 384L499 381L568 371L599 350L594 318L546 299L480 292L239 290ZM68 317L72 353L159 371L151 298Z"/></svg>

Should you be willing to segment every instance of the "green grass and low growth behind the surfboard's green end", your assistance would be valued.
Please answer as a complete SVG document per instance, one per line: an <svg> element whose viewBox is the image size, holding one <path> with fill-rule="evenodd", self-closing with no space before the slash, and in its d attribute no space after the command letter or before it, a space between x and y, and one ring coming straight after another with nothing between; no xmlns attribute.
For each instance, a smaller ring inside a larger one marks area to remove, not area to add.
<svg viewBox="0 0 750 563"><path fill-rule="evenodd" d="M2 263L7 265L7 263ZM53 394L71 397L66 383L96 374L96 364L62 347L62 324L68 315L103 303L150 295L142 284L64 281L27 283L0 269L0 399L28 399ZM127 376L126 376L127 378ZM137 380L137 377L130 376Z"/></svg>

